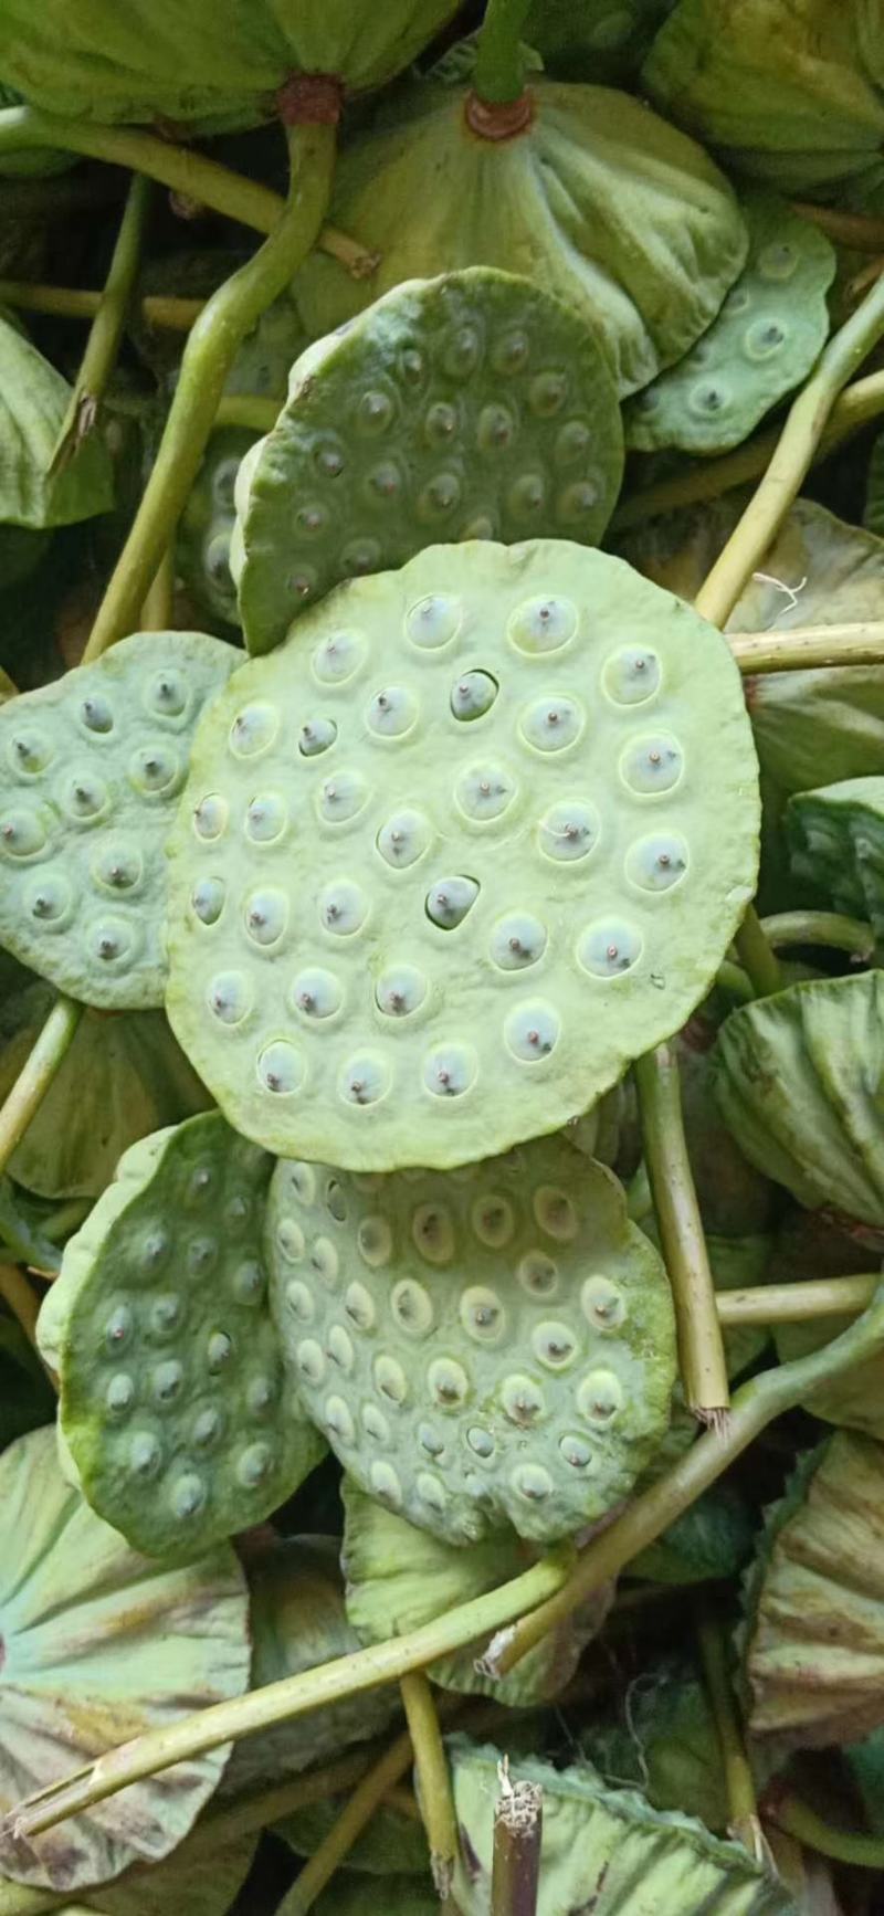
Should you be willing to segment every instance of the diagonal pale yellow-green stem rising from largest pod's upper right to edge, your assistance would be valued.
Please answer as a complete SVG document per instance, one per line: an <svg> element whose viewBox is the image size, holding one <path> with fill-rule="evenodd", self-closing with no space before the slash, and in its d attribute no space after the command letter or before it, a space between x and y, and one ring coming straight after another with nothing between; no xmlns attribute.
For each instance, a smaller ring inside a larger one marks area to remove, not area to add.
<svg viewBox="0 0 884 1916"><path fill-rule="evenodd" d="M882 333L884 278L874 282L857 310L823 349L815 372L792 402L765 477L696 594L694 605L704 619L725 628L800 492L842 385L878 345Z"/></svg>

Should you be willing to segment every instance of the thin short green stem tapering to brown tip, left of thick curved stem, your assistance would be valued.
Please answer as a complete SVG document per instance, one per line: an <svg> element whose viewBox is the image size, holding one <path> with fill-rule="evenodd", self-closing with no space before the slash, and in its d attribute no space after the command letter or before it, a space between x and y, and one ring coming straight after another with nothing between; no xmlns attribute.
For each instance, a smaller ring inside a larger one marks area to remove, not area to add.
<svg viewBox="0 0 884 1916"><path fill-rule="evenodd" d="M128 184L127 205L119 222L117 245L104 284L98 310L86 339L86 351L67 404L50 462L50 473L59 471L77 452L77 446L94 429L98 408L107 391L107 381L117 364L123 328L134 293L138 268L142 262L144 228L150 213L150 180L134 172Z"/></svg>

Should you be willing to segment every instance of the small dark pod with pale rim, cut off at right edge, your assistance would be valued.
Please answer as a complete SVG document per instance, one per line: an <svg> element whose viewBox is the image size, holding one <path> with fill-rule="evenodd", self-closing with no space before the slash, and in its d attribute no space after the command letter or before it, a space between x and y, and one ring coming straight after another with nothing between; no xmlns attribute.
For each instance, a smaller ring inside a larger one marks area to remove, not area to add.
<svg viewBox="0 0 884 1916"><path fill-rule="evenodd" d="M867 918L884 939L884 778L798 791L786 807L786 833L794 876L840 912Z"/></svg>

